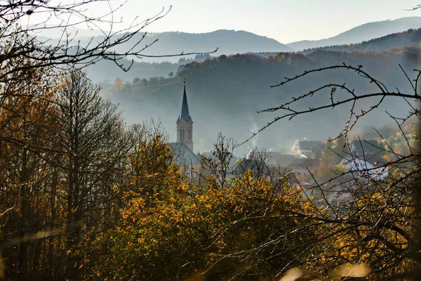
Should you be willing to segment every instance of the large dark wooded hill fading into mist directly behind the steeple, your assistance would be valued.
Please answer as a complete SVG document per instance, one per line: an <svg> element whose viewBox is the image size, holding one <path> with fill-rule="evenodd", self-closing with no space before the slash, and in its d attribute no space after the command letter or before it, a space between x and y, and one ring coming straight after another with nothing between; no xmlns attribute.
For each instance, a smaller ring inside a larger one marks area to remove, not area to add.
<svg viewBox="0 0 421 281"><path fill-rule="evenodd" d="M187 79L187 96L190 114L194 121L195 150L210 150L218 132L244 141L258 128L279 116L281 112L258 114L258 110L286 102L292 96L308 93L312 87L324 83L352 85L356 93L373 90L373 84L350 72L315 73L305 80L287 84L282 88L271 88L283 77L293 77L305 70L328 65L347 63L363 65L364 70L386 85L400 91L410 91L408 81L399 70L398 64L410 71L416 67L419 48L403 47L381 53L345 53L317 50L308 55L302 53L279 53L262 58L258 55L221 55L203 63L189 63L179 68L173 78L148 81L147 84L127 84L118 93L107 89L104 94L125 110L129 123L138 123L151 117L160 118L163 126L175 138L175 121L180 115L182 80ZM410 73L412 75L412 73ZM330 91L314 96L309 103L300 106L308 108L329 98ZM367 101L369 102L369 101ZM356 105L363 107L363 104ZM384 110L392 115L402 112L406 106L389 99L375 115L363 119L361 126L382 126L391 121ZM358 111L358 110L357 110ZM406 112L406 111L405 111ZM326 139L336 136L345 125L349 109L315 113L309 118L295 118L290 122L279 122L262 132L250 145L260 148L286 150L297 138ZM328 118L329 126L326 126ZM246 145L239 148L237 155L247 151Z"/></svg>

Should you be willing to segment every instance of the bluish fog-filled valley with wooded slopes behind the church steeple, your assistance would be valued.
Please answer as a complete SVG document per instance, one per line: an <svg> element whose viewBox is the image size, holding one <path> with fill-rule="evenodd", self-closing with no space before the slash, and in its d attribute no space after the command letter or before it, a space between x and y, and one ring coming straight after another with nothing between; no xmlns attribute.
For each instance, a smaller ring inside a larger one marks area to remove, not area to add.
<svg viewBox="0 0 421 281"><path fill-rule="evenodd" d="M387 22L388 25L389 23ZM308 93L318 85L318 81L338 84L346 82L356 93L366 93L374 89L366 79L347 71L314 73L304 83L300 81L271 87L283 81L284 77L293 77L306 70L342 63L363 65L363 70L376 79L385 81L387 86L408 91L410 85L402 79L404 74L399 64L405 70L417 67L419 53L416 45L420 34L420 30L409 30L361 44L313 48L303 53L247 52L229 56L210 54L196 55L192 61L178 58L180 62L175 64L134 63L127 73L118 72L118 67L111 63L100 62L88 67L88 74L103 83L102 94L114 103L119 103L119 109L123 110L128 124L149 119L161 120L163 128L173 141L176 139L175 121L181 110L183 80L186 79L189 109L194 121L194 150L203 152L212 150L220 132L239 143L246 141L282 113L257 113L258 111L276 107L293 96ZM148 77L148 71L154 74ZM116 89L116 79L120 77L123 85L121 89ZM328 94L329 91L320 92L311 101L307 100L299 106L314 107ZM393 120L385 111L399 114L400 106L407 106L403 103L399 100L399 106L396 106L392 99L387 100L382 104L381 110L361 120L356 129L378 129L392 124ZM356 106L363 108L364 104L357 103ZM297 139L326 140L328 137L338 136L349 118L349 112L348 109L337 107L309 116L311 117L296 117L290 121L281 120L274 126L269 126L252 141L237 148L236 153L245 155L254 145L261 149L288 153ZM326 120L329 122L328 126Z"/></svg>

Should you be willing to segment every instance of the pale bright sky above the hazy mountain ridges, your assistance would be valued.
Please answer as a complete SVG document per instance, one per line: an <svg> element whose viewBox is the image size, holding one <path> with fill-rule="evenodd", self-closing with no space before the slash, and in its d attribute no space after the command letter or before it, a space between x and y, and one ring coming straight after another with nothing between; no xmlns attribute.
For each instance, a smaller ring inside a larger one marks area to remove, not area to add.
<svg viewBox="0 0 421 281"><path fill-rule="evenodd" d="M71 0L69 0L71 1ZM113 8L123 0L110 1ZM421 0L127 0L114 20L124 24L151 18L168 8L171 11L147 27L150 32L211 32L246 30L290 43L333 37L366 22L421 16L421 9L405 11ZM95 4L88 13L109 11L106 2Z"/></svg>

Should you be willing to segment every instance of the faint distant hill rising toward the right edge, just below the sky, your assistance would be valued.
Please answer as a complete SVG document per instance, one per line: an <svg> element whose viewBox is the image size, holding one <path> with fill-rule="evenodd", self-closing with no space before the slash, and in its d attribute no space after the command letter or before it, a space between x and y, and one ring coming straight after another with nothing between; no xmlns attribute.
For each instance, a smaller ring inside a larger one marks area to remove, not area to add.
<svg viewBox="0 0 421 281"><path fill-rule="evenodd" d="M421 27L421 17L399 18L397 20L384 20L380 22L368 22L364 25L352 28L347 32L338 34L335 37L316 41L298 41L286 46L295 51L303 51L309 48L319 48L323 46L334 46L344 44L356 44L368 41L373 38L384 37L388 34L403 32Z"/></svg>

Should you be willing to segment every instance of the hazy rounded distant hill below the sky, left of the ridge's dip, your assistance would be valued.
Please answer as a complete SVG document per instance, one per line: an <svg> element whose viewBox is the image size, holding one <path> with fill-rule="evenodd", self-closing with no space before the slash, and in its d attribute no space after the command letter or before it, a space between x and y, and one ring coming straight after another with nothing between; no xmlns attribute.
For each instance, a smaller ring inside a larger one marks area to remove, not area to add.
<svg viewBox="0 0 421 281"><path fill-rule="evenodd" d="M98 36L87 38L86 30L74 30L73 35L83 34L83 37L78 37L74 40L75 44L86 46L88 44L95 44L104 39L104 37ZM95 33L93 33L95 34ZM187 33L187 32L161 32L161 33L147 33L145 38L142 39L145 33L135 34L131 38L130 42L126 44L120 44L116 52L128 50L133 46L131 42L142 40L141 44L138 45L138 49L145 48L145 45L153 44L150 48L146 48L144 53L151 57L144 58L133 58L138 62L143 63L160 63L160 62L171 62L177 63L180 56L175 57L159 57L160 55L171 55L180 53L209 53L213 52L218 48L218 51L212 55L232 55L236 53L247 53L247 52L288 52L293 51L288 46L279 43L275 39L260 36L246 31L235 31L235 30L216 30L214 32L207 33ZM43 41L46 40L47 34L36 34L36 36L42 37ZM54 34L51 34L54 35ZM95 36L95 35L93 35ZM55 44L58 37L53 38L49 41L49 44ZM117 37L114 38L114 40ZM194 58L194 55L185 55L183 58Z"/></svg>

